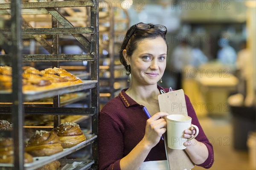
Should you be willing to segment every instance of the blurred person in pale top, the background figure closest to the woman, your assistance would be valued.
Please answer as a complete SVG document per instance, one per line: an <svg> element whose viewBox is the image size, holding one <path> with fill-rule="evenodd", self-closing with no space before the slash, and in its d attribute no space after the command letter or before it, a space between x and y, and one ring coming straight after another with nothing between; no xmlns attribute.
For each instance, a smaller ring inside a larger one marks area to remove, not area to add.
<svg viewBox="0 0 256 170"><path fill-rule="evenodd" d="M176 79L176 89L182 88L182 73L185 73L185 68L190 64L192 58L192 47L187 40L181 40L180 44L174 49L172 53L172 75Z"/></svg>

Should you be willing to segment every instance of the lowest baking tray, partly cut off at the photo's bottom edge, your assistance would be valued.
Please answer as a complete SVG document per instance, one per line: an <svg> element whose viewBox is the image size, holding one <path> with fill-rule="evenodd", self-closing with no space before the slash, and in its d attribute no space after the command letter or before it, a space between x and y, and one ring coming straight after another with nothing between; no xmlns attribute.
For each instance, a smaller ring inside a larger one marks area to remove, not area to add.
<svg viewBox="0 0 256 170"><path fill-rule="evenodd" d="M61 166L57 170L62 170L62 168L66 164L73 164L73 162L83 162L79 164L76 168L73 170L88 170L94 164L94 160L77 160L77 159L59 159L58 161L61 162Z"/></svg>

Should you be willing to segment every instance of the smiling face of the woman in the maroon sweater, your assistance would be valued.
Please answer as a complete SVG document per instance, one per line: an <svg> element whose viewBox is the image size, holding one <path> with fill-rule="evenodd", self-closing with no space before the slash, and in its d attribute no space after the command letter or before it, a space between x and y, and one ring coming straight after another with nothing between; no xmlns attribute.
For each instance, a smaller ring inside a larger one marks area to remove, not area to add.
<svg viewBox="0 0 256 170"><path fill-rule="evenodd" d="M163 76L166 68L167 45L162 37L146 38L138 42L132 56L123 51L127 65L131 66L132 82L154 85Z"/></svg>

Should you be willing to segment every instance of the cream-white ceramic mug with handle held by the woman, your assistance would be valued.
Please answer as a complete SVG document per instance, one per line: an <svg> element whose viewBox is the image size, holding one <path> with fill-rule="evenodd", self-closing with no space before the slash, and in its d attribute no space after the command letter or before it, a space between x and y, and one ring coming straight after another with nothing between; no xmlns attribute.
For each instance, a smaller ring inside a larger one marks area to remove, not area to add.
<svg viewBox="0 0 256 170"><path fill-rule="evenodd" d="M198 136L199 129L196 125L191 125L192 118L181 114L172 114L166 116L167 122L167 141L168 147L171 149L186 149L184 142L194 139ZM195 136L192 138L184 138L184 131L190 127L195 127Z"/></svg>

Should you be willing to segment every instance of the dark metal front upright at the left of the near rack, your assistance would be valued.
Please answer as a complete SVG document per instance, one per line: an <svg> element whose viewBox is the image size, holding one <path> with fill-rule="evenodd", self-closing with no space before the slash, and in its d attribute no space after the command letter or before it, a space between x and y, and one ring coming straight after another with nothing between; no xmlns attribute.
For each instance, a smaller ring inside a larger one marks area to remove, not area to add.
<svg viewBox="0 0 256 170"><path fill-rule="evenodd" d="M20 0L11 1L11 46L10 56L12 56L12 121L13 129L12 137L14 140L14 167L17 169L23 169L23 144L20 144L20 139L23 139L23 93L22 93L22 77L19 74L22 70L22 57L21 57L21 9Z"/></svg>

